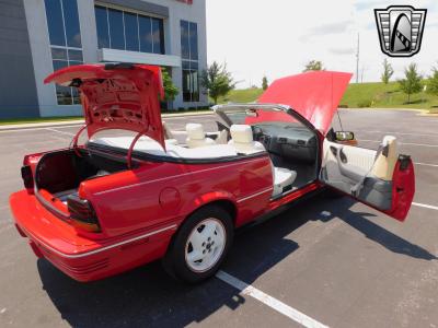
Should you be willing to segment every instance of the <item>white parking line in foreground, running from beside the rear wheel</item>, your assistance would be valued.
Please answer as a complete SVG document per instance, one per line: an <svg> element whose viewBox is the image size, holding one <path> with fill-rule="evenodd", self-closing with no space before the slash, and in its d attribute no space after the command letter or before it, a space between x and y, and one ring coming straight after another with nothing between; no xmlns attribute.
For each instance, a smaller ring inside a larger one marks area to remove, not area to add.
<svg viewBox="0 0 438 328"><path fill-rule="evenodd" d="M233 288L238 289L241 292L241 294L254 297L255 300L262 302L263 304L269 306L276 312L279 312L280 314L287 316L288 318L292 319L293 321L304 327L312 327L312 328L327 327L316 321L315 319L312 319L311 317L304 315L298 309L295 309L293 307L290 307L289 305L283 303L281 301L278 301L277 298L274 298L273 296L265 294L264 292L257 290L251 284L247 284L242 280L239 280L238 278L224 271L218 271L218 273L216 273L216 277L222 280L223 282L232 285Z"/></svg>

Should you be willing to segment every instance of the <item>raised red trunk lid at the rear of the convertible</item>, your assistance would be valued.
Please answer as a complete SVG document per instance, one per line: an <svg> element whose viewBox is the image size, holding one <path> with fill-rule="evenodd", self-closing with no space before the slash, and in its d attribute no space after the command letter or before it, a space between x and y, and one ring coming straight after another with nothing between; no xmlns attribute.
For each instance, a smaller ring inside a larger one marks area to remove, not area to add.
<svg viewBox="0 0 438 328"><path fill-rule="evenodd" d="M55 82L78 87L89 138L106 129L142 132L164 147L160 112L163 97L159 67L129 63L71 66L48 75Z"/></svg>

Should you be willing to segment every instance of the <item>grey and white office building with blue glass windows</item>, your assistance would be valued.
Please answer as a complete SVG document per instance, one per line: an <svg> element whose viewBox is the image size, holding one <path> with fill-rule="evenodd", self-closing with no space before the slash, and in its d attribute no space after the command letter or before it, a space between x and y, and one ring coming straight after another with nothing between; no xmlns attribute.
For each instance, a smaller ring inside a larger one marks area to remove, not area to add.
<svg viewBox="0 0 438 328"><path fill-rule="evenodd" d="M205 0L4 0L0 11L10 15L0 21L9 77L0 80L0 118L80 115L76 89L43 80L87 62L161 66L180 89L171 108L208 104L199 85L207 66Z"/></svg>

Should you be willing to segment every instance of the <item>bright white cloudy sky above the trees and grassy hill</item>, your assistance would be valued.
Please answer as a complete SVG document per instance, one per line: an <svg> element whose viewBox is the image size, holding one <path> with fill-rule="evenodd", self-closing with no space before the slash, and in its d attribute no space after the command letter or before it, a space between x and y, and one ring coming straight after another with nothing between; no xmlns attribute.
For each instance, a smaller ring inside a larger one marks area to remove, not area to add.
<svg viewBox="0 0 438 328"><path fill-rule="evenodd" d="M360 69L364 81L379 81L381 50L374 22L374 8L393 1L339 0L207 0L208 60L227 61L239 87L260 85L299 73L309 60L322 60L337 71L356 71L357 34L360 34ZM438 1L400 0L396 4L427 8L422 50L412 58L389 58L394 77L403 75L410 62L428 74L437 63ZM355 79L355 78L354 78Z"/></svg>

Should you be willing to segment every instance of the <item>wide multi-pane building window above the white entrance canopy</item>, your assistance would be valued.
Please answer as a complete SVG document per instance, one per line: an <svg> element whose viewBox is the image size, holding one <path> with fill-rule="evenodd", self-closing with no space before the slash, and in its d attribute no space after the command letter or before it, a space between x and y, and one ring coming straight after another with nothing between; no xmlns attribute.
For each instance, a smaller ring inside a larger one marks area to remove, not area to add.
<svg viewBox="0 0 438 328"><path fill-rule="evenodd" d="M164 55L163 20L95 5L99 48Z"/></svg>

